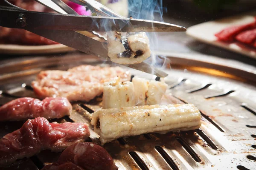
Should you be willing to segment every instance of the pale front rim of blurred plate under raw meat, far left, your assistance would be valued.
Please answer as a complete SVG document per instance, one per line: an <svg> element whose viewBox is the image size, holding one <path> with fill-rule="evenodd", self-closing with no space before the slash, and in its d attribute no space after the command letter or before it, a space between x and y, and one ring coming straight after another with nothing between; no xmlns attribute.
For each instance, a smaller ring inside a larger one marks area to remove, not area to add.
<svg viewBox="0 0 256 170"><path fill-rule="evenodd" d="M74 51L62 44L53 45L12 45L0 44L0 54L54 54Z"/></svg>

